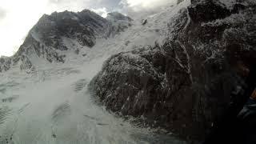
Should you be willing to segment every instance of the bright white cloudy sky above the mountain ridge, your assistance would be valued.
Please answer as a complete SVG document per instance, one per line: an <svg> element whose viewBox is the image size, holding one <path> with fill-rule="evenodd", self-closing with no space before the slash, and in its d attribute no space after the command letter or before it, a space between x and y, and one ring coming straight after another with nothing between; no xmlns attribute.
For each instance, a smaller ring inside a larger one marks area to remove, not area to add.
<svg viewBox="0 0 256 144"><path fill-rule="evenodd" d="M176 0L0 0L0 56L11 56L42 14L54 11L94 10L103 17L119 11L131 17L157 10Z"/></svg>

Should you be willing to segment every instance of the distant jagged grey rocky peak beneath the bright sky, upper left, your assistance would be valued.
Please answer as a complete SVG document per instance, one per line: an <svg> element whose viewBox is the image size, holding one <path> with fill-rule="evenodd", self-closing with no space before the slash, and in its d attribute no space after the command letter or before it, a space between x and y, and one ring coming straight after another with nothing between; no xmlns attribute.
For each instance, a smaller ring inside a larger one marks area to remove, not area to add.
<svg viewBox="0 0 256 144"><path fill-rule="evenodd" d="M130 26L131 19L122 14L102 18L90 10L74 13L44 14L30 30L18 52L10 58L1 58L0 72L19 66L21 70L33 70L34 62L65 62L62 51L77 51L93 47L97 38L110 38ZM121 19L120 19L121 18Z"/></svg>

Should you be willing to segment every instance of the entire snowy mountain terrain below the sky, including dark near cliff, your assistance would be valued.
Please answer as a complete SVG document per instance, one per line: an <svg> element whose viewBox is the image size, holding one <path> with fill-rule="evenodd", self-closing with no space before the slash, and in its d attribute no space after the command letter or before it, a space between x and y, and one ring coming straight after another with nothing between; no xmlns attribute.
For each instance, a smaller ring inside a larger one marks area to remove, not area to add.
<svg viewBox="0 0 256 144"><path fill-rule="evenodd" d="M202 140L244 81L236 63L256 62L255 5L179 0L139 20L90 10L43 15L17 53L0 58L0 136L23 143L186 143L172 134Z"/></svg>

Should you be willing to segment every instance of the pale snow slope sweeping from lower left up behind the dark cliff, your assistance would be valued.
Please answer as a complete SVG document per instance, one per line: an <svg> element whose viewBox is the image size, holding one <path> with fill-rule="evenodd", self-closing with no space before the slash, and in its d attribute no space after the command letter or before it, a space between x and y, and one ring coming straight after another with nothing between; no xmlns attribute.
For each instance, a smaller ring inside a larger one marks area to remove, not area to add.
<svg viewBox="0 0 256 144"><path fill-rule="evenodd" d="M87 84L111 55L162 42L170 18L188 5L190 2L185 1L150 15L145 26L128 19L131 25L126 30L115 31L108 38L102 36L107 32L99 34L101 30L96 30L94 46L83 45L78 37L66 34L54 41L42 40L42 35L31 30L27 41L10 58L9 67L0 73L0 143L185 143L110 114L95 104ZM78 20L74 15L71 18ZM58 40L62 45L57 48L51 43ZM5 65L2 62L1 68Z"/></svg>

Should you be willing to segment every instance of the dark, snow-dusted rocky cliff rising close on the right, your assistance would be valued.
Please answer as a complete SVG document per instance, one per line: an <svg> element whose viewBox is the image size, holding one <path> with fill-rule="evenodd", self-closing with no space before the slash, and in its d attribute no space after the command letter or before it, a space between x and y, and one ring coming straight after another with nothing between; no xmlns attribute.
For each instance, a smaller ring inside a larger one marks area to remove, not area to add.
<svg viewBox="0 0 256 144"><path fill-rule="evenodd" d="M235 63L255 62L255 6L193 0L169 22L164 43L112 56L90 88L109 110L202 139L242 82Z"/></svg>

